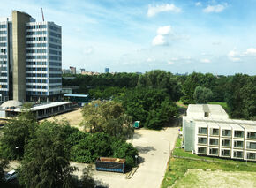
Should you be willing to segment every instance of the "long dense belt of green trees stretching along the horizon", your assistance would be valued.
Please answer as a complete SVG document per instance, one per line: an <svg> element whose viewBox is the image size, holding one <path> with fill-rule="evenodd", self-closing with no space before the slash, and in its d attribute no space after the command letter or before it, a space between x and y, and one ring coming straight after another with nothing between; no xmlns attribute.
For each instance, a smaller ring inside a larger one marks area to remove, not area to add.
<svg viewBox="0 0 256 188"><path fill-rule="evenodd" d="M99 76L79 75L72 80L72 83L64 81L64 86L72 85L83 85L83 88L87 88L87 91L84 90L84 92L90 94L92 98L107 100L119 96L125 99L126 95L129 97L133 90L141 89L141 92L144 92L143 89L158 89L168 94L171 102L178 100L185 104L211 101L227 102L230 117L256 118L255 76L245 74L215 76L211 73L192 72L189 75L179 76L168 71L155 70L141 75L134 73L101 74ZM127 100L122 103L126 109ZM139 107L139 103L137 106ZM132 115L130 112L128 114ZM135 117L133 114L132 118L138 120Z"/></svg>

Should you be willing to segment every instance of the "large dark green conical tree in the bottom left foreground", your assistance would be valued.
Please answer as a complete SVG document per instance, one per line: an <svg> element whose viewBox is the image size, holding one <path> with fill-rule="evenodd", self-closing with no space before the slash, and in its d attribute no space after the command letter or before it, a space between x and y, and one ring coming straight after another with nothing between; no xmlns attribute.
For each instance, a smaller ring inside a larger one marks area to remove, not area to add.
<svg viewBox="0 0 256 188"><path fill-rule="evenodd" d="M19 183L25 187L74 187L63 124L43 122L25 147Z"/></svg>

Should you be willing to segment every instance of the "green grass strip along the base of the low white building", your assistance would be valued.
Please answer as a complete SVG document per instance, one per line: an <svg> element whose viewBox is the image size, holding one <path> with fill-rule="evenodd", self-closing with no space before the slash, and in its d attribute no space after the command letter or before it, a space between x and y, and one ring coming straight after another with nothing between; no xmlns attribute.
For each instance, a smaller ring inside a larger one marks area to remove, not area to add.
<svg viewBox="0 0 256 188"><path fill-rule="evenodd" d="M181 145L181 139L178 138L176 147L179 147L180 145ZM192 157L192 158L198 158L198 159L207 159L207 160L211 160L213 162L171 158L170 159L170 170L169 169L166 170L165 176L162 181L162 188L167 188L167 187L173 185L178 179L184 178L184 175L188 169L203 169L203 170L220 169L222 171L256 172L256 163L252 163L252 162L246 163L246 162L226 160L226 159L221 159L221 158L198 156L197 154L192 154L190 152L184 152L184 150L181 148L175 148L173 151L173 155Z"/></svg>

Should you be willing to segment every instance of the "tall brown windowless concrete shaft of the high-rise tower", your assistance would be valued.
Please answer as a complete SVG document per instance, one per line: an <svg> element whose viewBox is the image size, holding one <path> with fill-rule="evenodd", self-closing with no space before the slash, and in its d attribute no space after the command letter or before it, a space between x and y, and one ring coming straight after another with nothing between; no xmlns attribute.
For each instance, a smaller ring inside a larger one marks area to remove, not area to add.
<svg viewBox="0 0 256 188"><path fill-rule="evenodd" d="M26 102L26 22L30 16L12 11L13 100Z"/></svg>

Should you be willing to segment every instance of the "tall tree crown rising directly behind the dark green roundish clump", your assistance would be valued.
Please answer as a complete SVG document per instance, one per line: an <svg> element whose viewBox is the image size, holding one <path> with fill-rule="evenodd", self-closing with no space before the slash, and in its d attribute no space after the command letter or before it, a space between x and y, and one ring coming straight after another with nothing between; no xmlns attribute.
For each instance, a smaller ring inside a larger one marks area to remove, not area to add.
<svg viewBox="0 0 256 188"><path fill-rule="evenodd" d="M154 70L146 72L139 76L138 86L164 89L173 101L178 101L181 96L181 87L177 78L169 71Z"/></svg>

